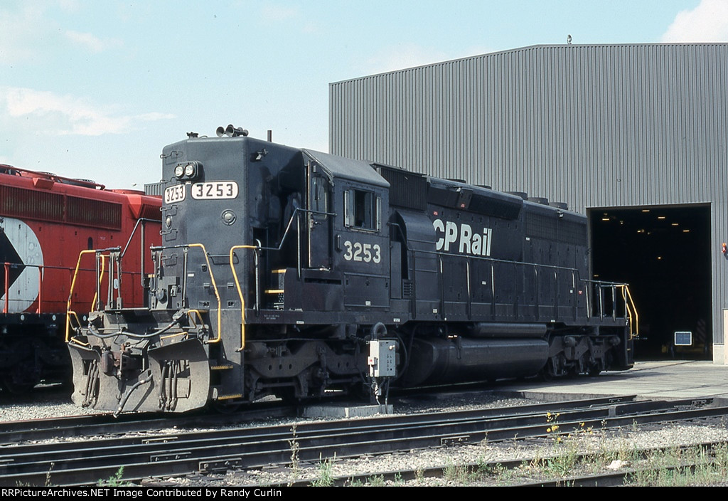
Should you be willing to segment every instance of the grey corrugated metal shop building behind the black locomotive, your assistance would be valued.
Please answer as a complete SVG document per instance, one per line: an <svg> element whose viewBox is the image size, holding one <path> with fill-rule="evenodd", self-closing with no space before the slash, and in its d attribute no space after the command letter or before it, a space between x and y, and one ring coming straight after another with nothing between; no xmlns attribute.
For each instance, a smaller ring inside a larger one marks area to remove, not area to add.
<svg viewBox="0 0 728 501"><path fill-rule="evenodd" d="M331 84L330 151L567 202L590 216L595 273L643 269L645 304L689 310L653 312L653 338L708 336L710 357L712 336L723 363L727 82L728 44L524 47Z"/></svg>

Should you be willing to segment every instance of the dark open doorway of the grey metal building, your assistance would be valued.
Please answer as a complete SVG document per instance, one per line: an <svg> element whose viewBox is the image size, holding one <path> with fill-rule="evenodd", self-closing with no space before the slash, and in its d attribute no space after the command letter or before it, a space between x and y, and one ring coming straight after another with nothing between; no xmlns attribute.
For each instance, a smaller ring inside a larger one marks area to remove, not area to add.
<svg viewBox="0 0 728 501"><path fill-rule="evenodd" d="M637 360L711 360L710 205L587 209L594 280L626 282ZM683 342L675 344L675 333Z"/></svg>

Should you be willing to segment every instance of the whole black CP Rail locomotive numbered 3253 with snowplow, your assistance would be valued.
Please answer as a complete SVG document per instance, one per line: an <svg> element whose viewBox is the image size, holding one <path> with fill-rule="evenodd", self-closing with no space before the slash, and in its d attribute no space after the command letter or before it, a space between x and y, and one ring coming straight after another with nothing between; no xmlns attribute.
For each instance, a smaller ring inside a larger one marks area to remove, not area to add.
<svg viewBox="0 0 728 501"><path fill-rule="evenodd" d="M517 194L250 138L162 152L146 308L72 326L74 402L188 411L633 364L587 224Z"/></svg>

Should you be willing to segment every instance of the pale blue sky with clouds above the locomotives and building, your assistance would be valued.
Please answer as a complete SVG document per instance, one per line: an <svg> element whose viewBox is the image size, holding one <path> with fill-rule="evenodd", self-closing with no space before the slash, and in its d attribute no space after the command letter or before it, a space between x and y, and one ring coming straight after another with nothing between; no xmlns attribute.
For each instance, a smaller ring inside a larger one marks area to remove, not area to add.
<svg viewBox="0 0 728 501"><path fill-rule="evenodd" d="M328 151L328 84L536 44L728 42L728 0L2 0L0 163L109 188L233 124Z"/></svg>

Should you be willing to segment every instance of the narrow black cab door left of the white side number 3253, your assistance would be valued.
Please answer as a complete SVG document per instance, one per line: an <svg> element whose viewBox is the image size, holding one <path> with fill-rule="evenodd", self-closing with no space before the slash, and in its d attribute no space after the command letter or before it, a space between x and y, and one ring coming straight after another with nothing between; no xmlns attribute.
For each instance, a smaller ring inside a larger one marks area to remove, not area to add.
<svg viewBox="0 0 728 501"><path fill-rule="evenodd" d="M306 169L308 180L309 268L331 269L331 184L314 162Z"/></svg>

